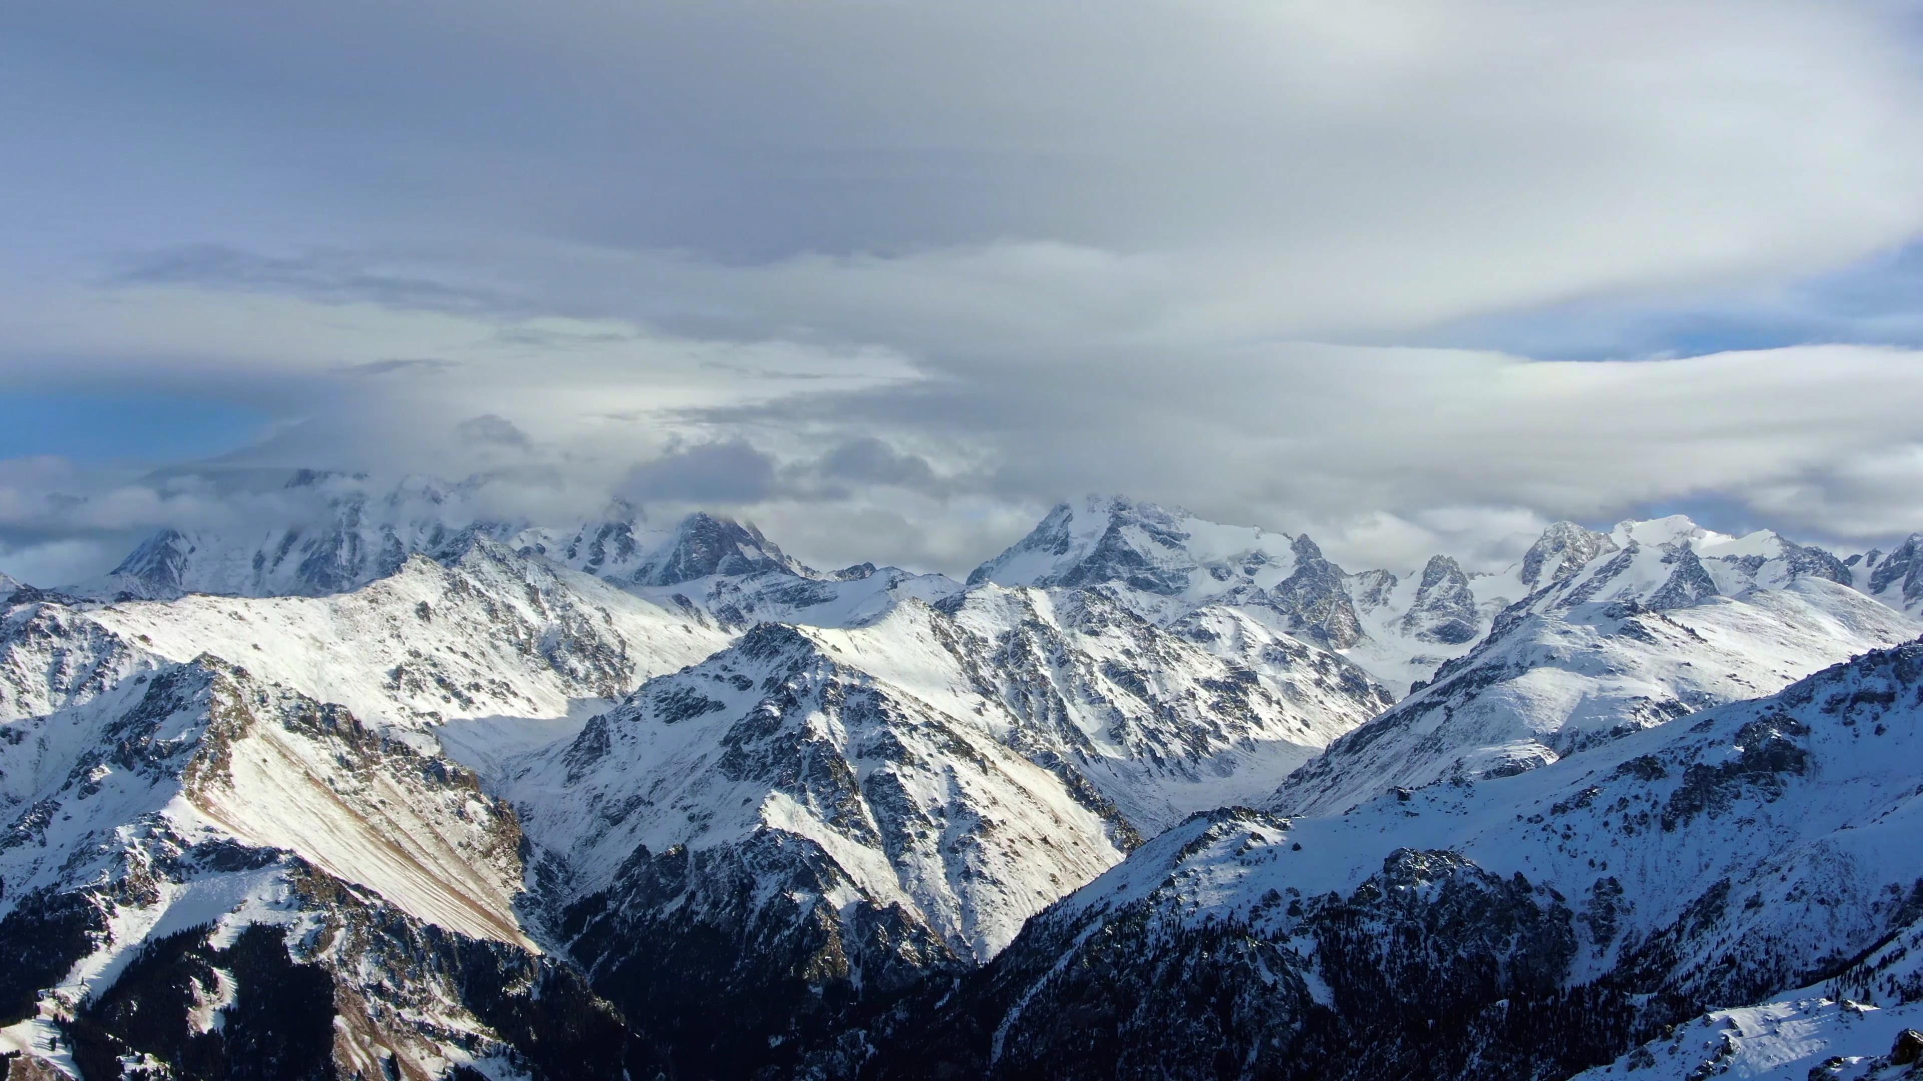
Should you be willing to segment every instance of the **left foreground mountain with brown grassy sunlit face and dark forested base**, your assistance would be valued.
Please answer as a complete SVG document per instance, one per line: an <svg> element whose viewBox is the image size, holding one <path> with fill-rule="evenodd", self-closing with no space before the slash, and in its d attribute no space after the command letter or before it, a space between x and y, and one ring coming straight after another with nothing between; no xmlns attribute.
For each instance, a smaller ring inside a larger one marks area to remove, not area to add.
<svg viewBox="0 0 1923 1081"><path fill-rule="evenodd" d="M521 833L473 775L225 662L129 664L0 725L0 1052L87 1077L650 1062L521 929Z"/></svg>

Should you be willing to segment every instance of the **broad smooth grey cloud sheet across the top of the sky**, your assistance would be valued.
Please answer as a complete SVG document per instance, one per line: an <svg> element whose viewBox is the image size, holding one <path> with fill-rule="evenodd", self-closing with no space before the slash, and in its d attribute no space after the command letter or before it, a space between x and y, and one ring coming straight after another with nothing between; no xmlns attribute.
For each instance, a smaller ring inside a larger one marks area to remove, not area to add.
<svg viewBox="0 0 1923 1081"><path fill-rule="evenodd" d="M150 285L1329 337L1781 279L1923 227L1913 29L1885 4L102 13L21 21L21 77L56 108L12 138L58 181L115 123L90 102L185 106L160 129L171 185L108 192L204 229L127 273ZM227 160L231 196L325 208L385 254L210 240L204 192L175 185Z"/></svg>

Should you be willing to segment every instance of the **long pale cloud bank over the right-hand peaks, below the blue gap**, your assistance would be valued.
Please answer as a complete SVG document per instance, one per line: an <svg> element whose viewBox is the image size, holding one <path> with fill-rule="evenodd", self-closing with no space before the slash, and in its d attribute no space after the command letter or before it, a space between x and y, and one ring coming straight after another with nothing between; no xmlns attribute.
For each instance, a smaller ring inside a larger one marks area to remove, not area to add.
<svg viewBox="0 0 1923 1081"><path fill-rule="evenodd" d="M1423 546L1500 564L1502 542L1550 517L1608 523L1710 496L1810 539L1923 527L1923 502L1904 494L1923 460L1923 356L1908 350L1579 364L1273 346L1188 365L1150 356L950 375L700 421L781 415L954 446L992 439L992 464L954 473L977 492L1046 506L1119 489L1308 529L1363 564L1400 566Z"/></svg>

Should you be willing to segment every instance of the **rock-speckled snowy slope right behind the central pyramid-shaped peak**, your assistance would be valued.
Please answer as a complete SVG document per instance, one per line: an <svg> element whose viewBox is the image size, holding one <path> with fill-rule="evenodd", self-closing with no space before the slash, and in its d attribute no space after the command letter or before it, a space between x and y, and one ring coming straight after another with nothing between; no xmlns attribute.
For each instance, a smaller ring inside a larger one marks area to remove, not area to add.
<svg viewBox="0 0 1923 1081"><path fill-rule="evenodd" d="M1110 587L985 585L940 610L956 664L1011 717L1004 739L1085 777L1144 835L1254 798L1392 700L1356 666L1229 606L1156 627Z"/></svg>

